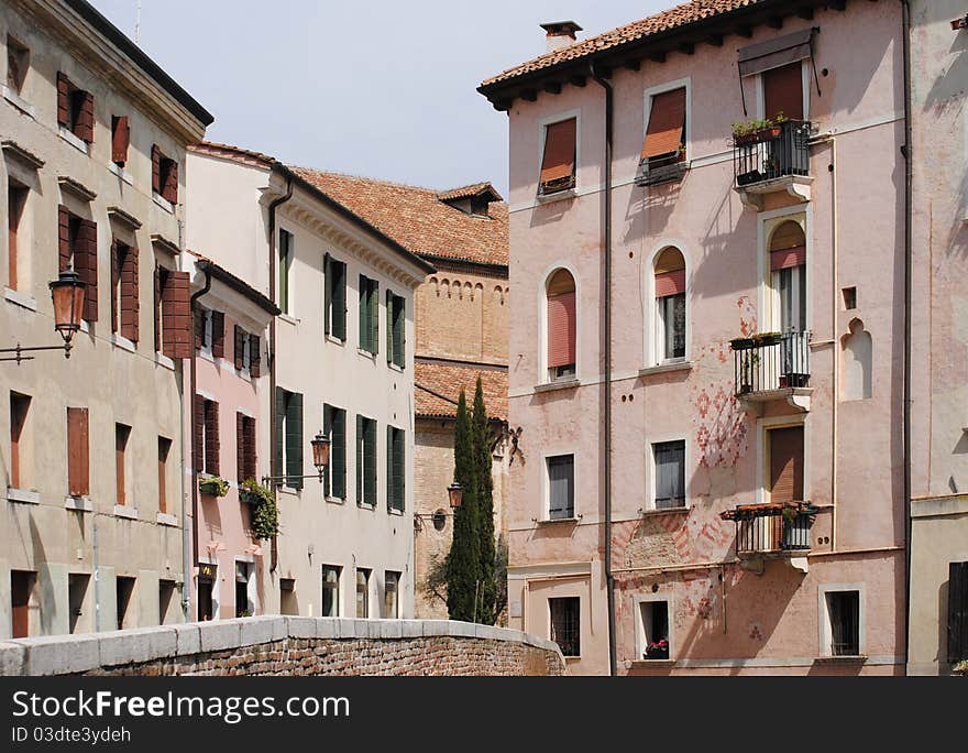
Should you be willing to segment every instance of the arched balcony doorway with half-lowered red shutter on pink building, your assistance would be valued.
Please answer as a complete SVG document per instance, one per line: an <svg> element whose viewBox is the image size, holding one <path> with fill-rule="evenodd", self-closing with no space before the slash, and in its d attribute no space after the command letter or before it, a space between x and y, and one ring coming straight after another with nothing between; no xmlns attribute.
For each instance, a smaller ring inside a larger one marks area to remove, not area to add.
<svg viewBox="0 0 968 753"><path fill-rule="evenodd" d="M787 220L770 238L770 286L774 326L806 331L806 236L800 222Z"/></svg>

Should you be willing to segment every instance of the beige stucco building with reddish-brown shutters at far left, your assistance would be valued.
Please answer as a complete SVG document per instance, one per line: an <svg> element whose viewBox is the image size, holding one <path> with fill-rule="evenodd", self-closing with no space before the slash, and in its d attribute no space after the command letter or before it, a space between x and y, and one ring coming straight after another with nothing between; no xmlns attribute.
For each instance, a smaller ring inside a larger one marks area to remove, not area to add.
<svg viewBox="0 0 968 753"><path fill-rule="evenodd" d="M59 342L47 283L87 283L69 360L0 364L0 636L180 621L184 166L212 117L82 0L4 2L0 45L0 347Z"/></svg>

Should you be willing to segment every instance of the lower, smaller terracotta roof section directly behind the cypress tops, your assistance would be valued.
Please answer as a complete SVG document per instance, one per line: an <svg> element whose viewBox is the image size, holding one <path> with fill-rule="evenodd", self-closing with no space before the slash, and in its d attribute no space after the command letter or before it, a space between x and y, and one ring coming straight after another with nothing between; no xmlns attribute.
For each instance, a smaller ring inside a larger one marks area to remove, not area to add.
<svg viewBox="0 0 968 753"><path fill-rule="evenodd" d="M437 362L418 361L414 364L416 414L447 418L455 416L461 390L466 395L468 405L473 403L479 375L488 417L503 421L507 417L507 371Z"/></svg>

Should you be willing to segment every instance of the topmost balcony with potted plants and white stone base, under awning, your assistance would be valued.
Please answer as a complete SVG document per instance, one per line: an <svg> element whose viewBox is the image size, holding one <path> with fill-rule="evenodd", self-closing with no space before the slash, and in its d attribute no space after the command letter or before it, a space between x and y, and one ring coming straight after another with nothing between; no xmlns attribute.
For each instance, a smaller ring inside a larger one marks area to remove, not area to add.
<svg viewBox="0 0 968 753"><path fill-rule="evenodd" d="M800 201L811 198L811 123L784 120L733 137L735 190L747 206L763 208L767 194L790 194Z"/></svg>

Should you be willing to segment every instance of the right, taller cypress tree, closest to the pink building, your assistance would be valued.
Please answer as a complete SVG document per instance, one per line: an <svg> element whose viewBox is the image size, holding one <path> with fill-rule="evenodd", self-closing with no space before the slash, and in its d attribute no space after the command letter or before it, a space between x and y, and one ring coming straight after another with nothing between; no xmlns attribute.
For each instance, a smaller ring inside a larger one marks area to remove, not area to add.
<svg viewBox="0 0 968 753"><path fill-rule="evenodd" d="M474 438L474 470L477 477L477 537L479 537L479 577L481 587L477 597L477 622L493 625L497 619L495 604L497 601L497 582L495 580L494 547L494 481L491 477L491 430L487 422L487 408L484 405L484 389L481 378L474 391L474 413L471 419Z"/></svg>

